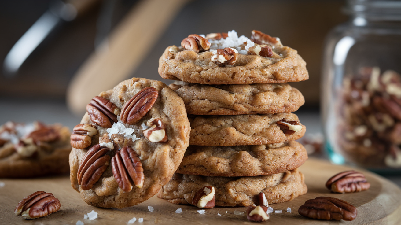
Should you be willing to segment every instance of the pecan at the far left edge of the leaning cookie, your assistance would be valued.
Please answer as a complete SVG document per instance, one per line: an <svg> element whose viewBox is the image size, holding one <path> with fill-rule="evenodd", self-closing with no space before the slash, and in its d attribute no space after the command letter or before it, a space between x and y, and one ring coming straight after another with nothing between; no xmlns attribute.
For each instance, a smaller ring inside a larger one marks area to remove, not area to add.
<svg viewBox="0 0 401 225"><path fill-rule="evenodd" d="M70 144L73 148L83 149L92 144L93 135L97 134L97 128L92 124L78 124L73 128Z"/></svg>

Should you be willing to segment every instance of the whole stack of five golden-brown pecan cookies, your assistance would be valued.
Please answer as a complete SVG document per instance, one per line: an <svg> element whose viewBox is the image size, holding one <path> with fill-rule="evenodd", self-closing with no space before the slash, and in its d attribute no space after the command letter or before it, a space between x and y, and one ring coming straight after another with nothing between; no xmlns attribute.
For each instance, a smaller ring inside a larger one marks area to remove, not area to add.
<svg viewBox="0 0 401 225"><path fill-rule="evenodd" d="M180 47L167 47L158 72L180 80L170 87L184 100L191 126L190 146L158 197L201 208L246 207L259 204L260 193L282 203L307 192L297 168L308 156L295 141L306 128L291 113L304 97L285 83L308 79L296 50L257 30L250 39L234 30L191 34Z"/></svg>

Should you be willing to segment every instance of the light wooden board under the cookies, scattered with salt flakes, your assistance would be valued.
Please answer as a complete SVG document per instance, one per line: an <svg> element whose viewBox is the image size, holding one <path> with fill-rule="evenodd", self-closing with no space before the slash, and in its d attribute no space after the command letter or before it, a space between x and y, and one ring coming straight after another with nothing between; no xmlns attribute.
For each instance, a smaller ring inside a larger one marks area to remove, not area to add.
<svg viewBox="0 0 401 225"><path fill-rule="evenodd" d="M283 225L317 225L317 224L401 224L401 189L391 181L368 172L363 172L371 183L368 191L360 193L334 194L325 187L326 180L330 176L343 170L352 169L347 166L332 165L327 161L314 158L308 159L300 170L305 174L305 182L308 185L308 193L293 201L270 205L274 210L282 210L283 213L271 213L268 221L262 224ZM5 183L0 188L0 224L34 224L34 225L75 225L81 220L85 225L123 225L130 219L143 218L143 223L134 224L255 224L248 222L245 215L234 215L234 211L245 211L245 207L215 207L206 209L205 214L199 214L198 208L189 205L175 205L168 203L156 196L148 201L125 209L103 209L87 205L81 200L79 193L70 186L67 176L36 179L0 179ZM14 215L14 207L18 201L34 193L46 191L53 193L61 202L61 209L48 217L24 220ZM348 201L358 210L358 216L354 221L317 221L302 217L298 214L298 208L308 199L318 196L336 197ZM148 206L154 208L148 211ZM287 208L291 213L286 212ZM182 208L182 213L175 213ZM85 213L92 210L98 213L98 218L90 221L83 219ZM221 216L217 215L220 213Z"/></svg>

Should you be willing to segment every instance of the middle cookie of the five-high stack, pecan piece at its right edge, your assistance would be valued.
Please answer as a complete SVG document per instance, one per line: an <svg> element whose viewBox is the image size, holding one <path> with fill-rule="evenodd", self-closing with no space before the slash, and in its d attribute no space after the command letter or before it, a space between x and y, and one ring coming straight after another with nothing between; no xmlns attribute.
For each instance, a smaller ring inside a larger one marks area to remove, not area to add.
<svg viewBox="0 0 401 225"><path fill-rule="evenodd" d="M201 146L281 143L297 140L306 131L292 113L196 116L190 124L189 144Z"/></svg>

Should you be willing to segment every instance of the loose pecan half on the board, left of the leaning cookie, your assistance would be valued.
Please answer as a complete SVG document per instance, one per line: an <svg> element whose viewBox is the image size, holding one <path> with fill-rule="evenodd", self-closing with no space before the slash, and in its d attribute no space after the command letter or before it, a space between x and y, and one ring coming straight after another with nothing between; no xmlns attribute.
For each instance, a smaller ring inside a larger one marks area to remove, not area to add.
<svg viewBox="0 0 401 225"><path fill-rule="evenodd" d="M36 191L22 199L14 209L16 215L22 215L24 219L36 219L45 217L59 211L60 201L52 193Z"/></svg>

